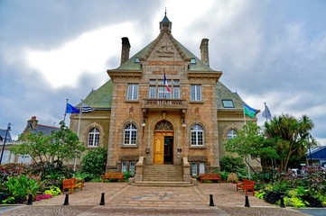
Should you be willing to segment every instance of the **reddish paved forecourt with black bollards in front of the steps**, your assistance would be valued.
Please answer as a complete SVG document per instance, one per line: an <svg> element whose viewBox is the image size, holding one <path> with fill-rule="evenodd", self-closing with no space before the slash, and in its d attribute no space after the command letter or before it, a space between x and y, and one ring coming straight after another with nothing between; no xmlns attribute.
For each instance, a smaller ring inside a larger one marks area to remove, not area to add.
<svg viewBox="0 0 326 216"><path fill-rule="evenodd" d="M101 202L104 194L104 205ZM215 206L210 206L212 194ZM198 184L191 187L140 187L126 183L87 183L83 191L33 202L2 215L289 215L303 216L292 208L280 208L236 192L235 184ZM1 208L0 208L1 209Z"/></svg>

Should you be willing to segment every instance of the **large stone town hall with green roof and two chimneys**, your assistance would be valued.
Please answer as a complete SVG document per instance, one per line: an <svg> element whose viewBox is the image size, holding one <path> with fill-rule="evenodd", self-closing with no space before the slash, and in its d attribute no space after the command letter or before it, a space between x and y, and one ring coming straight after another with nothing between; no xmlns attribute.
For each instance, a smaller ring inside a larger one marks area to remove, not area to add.
<svg viewBox="0 0 326 216"><path fill-rule="evenodd" d="M83 100L93 112L80 121L71 114L70 129L88 149L107 148L107 172L134 171L138 161L147 167L188 161L194 176L219 169L223 142L242 128L244 112L239 95L219 82L222 72L210 68L209 40L201 40L197 58L173 38L165 14L155 40L131 58L130 48L122 38L121 65Z"/></svg>

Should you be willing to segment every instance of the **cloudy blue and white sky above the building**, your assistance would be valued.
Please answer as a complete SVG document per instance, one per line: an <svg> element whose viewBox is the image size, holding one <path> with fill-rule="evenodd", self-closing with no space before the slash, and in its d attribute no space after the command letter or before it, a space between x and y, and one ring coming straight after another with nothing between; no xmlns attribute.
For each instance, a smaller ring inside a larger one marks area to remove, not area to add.
<svg viewBox="0 0 326 216"><path fill-rule="evenodd" d="M56 125L120 63L154 40L165 7L172 35L250 106L272 115L308 114L326 145L326 1L0 0L0 128L14 138L26 121ZM264 122L261 113L258 124ZM66 119L69 123L69 118Z"/></svg>

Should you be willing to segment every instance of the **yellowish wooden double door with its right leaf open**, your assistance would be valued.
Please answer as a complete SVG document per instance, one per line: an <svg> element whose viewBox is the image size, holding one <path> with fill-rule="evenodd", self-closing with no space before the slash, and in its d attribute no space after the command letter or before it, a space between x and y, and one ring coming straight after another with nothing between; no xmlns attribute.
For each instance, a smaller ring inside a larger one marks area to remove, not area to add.
<svg viewBox="0 0 326 216"><path fill-rule="evenodd" d="M154 164L173 164L173 132L154 132Z"/></svg>

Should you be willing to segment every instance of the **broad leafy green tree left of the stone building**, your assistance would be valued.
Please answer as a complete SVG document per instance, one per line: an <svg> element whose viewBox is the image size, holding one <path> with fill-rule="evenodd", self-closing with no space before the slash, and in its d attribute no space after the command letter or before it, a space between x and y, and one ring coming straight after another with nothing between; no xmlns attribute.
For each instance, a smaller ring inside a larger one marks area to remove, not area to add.
<svg viewBox="0 0 326 216"><path fill-rule="evenodd" d="M61 166L64 162L79 158L85 150L79 137L64 123L60 122L60 130L52 131L44 136L42 132L20 135L21 144L14 145L10 150L14 155L30 156L36 164Z"/></svg>

